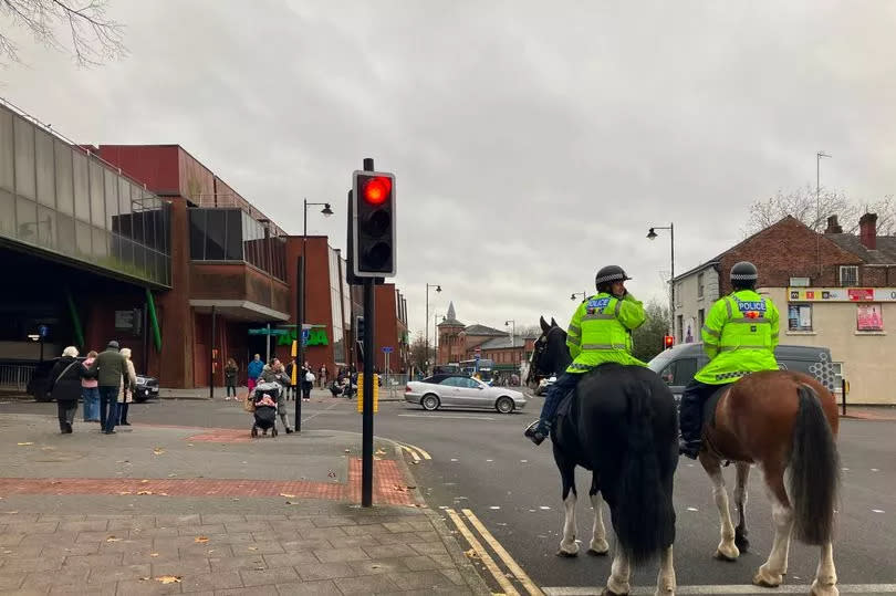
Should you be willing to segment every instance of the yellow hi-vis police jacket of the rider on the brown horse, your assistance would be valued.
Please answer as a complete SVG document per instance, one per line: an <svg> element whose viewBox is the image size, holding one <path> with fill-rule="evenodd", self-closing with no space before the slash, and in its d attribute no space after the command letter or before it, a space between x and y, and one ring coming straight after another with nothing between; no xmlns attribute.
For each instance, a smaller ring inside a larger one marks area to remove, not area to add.
<svg viewBox="0 0 896 596"><path fill-rule="evenodd" d="M725 385L760 370L778 370L778 309L752 290L716 302L701 330L709 363L695 376L700 383Z"/></svg>

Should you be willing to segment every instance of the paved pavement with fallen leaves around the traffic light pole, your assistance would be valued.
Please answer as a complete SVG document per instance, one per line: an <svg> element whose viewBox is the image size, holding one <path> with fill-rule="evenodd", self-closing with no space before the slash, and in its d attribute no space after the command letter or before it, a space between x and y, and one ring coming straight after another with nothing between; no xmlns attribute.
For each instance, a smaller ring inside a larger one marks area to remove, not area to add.
<svg viewBox="0 0 896 596"><path fill-rule="evenodd" d="M356 432L59 435L33 406L0 410L0 594L489 593L389 441L364 509Z"/></svg>

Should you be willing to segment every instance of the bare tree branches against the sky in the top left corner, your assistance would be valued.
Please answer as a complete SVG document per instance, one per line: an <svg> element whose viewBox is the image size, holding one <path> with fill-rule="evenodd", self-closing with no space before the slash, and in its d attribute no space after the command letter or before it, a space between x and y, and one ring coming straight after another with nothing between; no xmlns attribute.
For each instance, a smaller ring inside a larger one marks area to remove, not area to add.
<svg viewBox="0 0 896 596"><path fill-rule="evenodd" d="M0 0L0 18L27 30L38 43L70 53L80 66L98 65L127 53L122 42L124 28L106 17L106 0ZM67 30L67 42L58 35L60 27ZM21 62L19 46L0 31L0 64L7 60Z"/></svg>

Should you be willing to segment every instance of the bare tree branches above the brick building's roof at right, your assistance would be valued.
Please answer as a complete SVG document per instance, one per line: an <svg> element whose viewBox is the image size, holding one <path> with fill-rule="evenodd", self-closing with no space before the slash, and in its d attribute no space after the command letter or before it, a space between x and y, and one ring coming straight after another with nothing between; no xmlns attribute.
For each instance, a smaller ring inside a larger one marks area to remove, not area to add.
<svg viewBox="0 0 896 596"><path fill-rule="evenodd" d="M859 205L846 198L842 191L821 189L815 200L815 189L811 186L773 197L757 199L750 205L750 219L743 229L744 236L753 234L777 223L786 216L793 216L813 230L823 232L830 216L837 216L837 222L847 233L858 230L858 218L865 213L877 213L877 233L896 233L896 201L888 195L876 201Z"/></svg>

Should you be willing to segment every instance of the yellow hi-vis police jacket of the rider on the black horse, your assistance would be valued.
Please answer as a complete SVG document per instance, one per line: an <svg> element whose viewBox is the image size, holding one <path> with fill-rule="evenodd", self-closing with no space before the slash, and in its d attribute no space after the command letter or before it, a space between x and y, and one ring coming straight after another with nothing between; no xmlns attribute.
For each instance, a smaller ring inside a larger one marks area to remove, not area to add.
<svg viewBox="0 0 896 596"><path fill-rule="evenodd" d="M587 373L604 363L647 366L632 356L631 333L646 318L644 305L632 294L619 300L602 292L587 299L579 305L566 330L566 345L573 357L566 373Z"/></svg>

